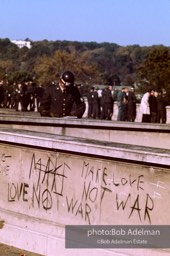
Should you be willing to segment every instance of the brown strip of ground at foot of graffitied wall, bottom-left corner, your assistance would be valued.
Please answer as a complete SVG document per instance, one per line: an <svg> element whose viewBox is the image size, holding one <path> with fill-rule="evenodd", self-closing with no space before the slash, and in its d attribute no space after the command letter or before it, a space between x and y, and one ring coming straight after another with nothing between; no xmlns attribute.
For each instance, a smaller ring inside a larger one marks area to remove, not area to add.
<svg viewBox="0 0 170 256"><path fill-rule="evenodd" d="M37 253L28 252L22 249L0 244L0 256L42 256Z"/></svg>

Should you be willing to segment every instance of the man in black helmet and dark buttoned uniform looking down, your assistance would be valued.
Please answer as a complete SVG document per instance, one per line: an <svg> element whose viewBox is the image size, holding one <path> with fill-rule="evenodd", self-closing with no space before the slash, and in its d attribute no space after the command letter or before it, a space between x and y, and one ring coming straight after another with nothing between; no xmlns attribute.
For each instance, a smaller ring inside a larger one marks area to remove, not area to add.
<svg viewBox="0 0 170 256"><path fill-rule="evenodd" d="M40 105L40 115L50 117L77 116L85 112L85 103L76 86L71 71L61 74L59 82L51 83L45 90ZM76 108L73 109L75 103Z"/></svg>

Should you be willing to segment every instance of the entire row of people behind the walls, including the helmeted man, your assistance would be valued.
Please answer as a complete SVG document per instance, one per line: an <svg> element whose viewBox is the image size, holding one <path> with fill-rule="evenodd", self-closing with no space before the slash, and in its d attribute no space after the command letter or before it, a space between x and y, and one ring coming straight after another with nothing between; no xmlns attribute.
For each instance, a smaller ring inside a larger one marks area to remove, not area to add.
<svg viewBox="0 0 170 256"><path fill-rule="evenodd" d="M102 90L92 86L87 95L87 117L112 120L114 102L117 102L117 121L134 122L137 104L135 89L120 88L114 91L109 85ZM0 81L0 107L3 108L12 108L16 111L37 110L42 116L62 117L75 112L75 109L72 109L75 105L81 112L76 115L81 118L85 111L85 103L80 90L74 86L74 75L70 71L61 74L59 82L51 83L46 90L42 86L36 86L32 81L14 82L11 85ZM142 122L166 123L166 105L162 91L148 90L141 99L140 111Z"/></svg>

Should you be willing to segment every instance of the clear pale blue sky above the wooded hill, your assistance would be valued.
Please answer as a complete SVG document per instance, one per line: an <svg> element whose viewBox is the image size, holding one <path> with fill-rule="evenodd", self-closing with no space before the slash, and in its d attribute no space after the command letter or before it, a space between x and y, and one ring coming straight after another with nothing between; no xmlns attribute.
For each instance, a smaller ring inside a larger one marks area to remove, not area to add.
<svg viewBox="0 0 170 256"><path fill-rule="evenodd" d="M170 0L0 0L0 38L170 46Z"/></svg>

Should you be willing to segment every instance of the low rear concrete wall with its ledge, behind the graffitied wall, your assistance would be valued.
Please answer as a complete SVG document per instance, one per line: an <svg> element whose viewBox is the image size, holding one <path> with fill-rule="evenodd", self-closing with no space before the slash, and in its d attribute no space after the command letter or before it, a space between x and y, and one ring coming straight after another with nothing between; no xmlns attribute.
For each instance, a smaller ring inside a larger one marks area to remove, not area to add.
<svg viewBox="0 0 170 256"><path fill-rule="evenodd" d="M170 125L91 119L1 116L1 127L170 149Z"/></svg>

